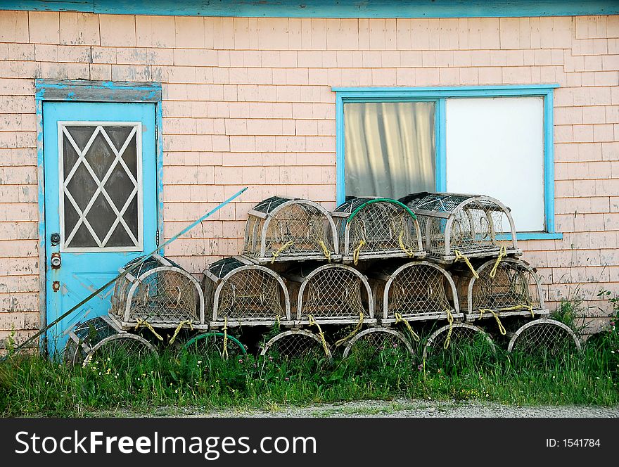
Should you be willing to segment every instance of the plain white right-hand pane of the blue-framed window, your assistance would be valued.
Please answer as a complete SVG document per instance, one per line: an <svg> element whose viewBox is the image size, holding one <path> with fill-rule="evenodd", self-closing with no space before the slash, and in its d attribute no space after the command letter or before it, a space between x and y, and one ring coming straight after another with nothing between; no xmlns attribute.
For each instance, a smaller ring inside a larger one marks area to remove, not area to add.
<svg viewBox="0 0 619 467"><path fill-rule="evenodd" d="M447 191L497 198L517 231L544 231L543 98L450 98L446 120Z"/></svg>

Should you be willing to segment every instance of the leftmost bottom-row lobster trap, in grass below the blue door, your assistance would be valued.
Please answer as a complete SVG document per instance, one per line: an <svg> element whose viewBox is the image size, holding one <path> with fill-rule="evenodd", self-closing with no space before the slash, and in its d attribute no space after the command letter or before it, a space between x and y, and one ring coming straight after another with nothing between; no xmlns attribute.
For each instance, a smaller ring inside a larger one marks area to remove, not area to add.
<svg viewBox="0 0 619 467"><path fill-rule="evenodd" d="M136 359L156 355L155 347L139 335L122 331L108 316L77 324L69 332L64 361L72 366L101 365L101 369L125 369Z"/></svg>

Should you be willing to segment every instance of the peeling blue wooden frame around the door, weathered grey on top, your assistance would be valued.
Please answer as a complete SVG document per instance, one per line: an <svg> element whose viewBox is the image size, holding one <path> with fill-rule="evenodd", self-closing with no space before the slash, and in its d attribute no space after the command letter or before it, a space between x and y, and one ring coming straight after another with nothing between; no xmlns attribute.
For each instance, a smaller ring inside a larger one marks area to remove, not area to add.
<svg viewBox="0 0 619 467"><path fill-rule="evenodd" d="M46 277L46 227L45 227L45 178L43 148L44 102L108 102L155 104L155 167L157 187L157 245L163 238L163 138L162 92L159 82L89 81L85 79L35 79L35 107L37 115L37 178L39 210L39 330L47 326L47 277ZM39 347L46 354L46 334L42 334Z"/></svg>

